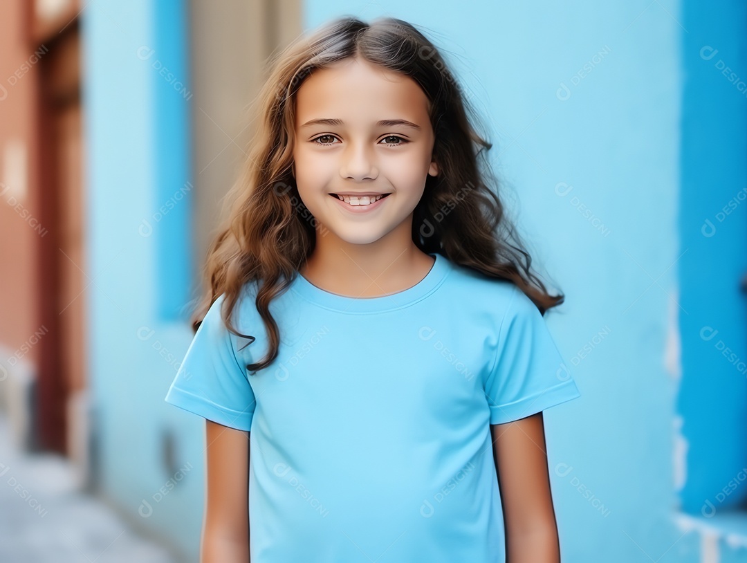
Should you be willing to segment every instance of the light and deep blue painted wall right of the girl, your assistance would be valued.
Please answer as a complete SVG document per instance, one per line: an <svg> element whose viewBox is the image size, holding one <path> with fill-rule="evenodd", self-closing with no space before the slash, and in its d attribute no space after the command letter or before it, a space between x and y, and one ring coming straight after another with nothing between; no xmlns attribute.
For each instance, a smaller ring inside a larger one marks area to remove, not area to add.
<svg viewBox="0 0 747 563"><path fill-rule="evenodd" d="M697 514L745 467L744 378L718 338L698 336L715 326L747 357L744 213L719 240L700 231L745 185L744 96L719 75L721 55L698 55L709 44L741 68L745 18L737 2L703 4L306 3L306 28L343 14L421 26L485 118L533 264L566 296L548 325L583 397L545 420L568 561L746 556L741 514L716 523L678 508Z"/></svg>

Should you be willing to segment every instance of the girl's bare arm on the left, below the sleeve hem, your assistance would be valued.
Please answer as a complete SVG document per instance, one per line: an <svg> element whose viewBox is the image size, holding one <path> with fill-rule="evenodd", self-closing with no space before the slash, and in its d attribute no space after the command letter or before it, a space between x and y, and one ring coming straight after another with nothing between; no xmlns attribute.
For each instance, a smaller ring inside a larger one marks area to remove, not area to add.
<svg viewBox="0 0 747 563"><path fill-rule="evenodd" d="M205 419L205 517L200 563L249 561L249 432Z"/></svg>

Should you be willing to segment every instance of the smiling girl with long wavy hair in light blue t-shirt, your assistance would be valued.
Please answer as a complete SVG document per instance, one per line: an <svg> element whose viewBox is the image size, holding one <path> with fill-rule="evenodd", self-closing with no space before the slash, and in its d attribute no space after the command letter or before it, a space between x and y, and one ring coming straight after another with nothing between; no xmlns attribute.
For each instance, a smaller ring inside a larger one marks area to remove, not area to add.
<svg viewBox="0 0 747 563"><path fill-rule="evenodd" d="M558 562L542 411L580 394L542 314L563 296L441 55L341 18L259 106L166 397L206 419L202 561Z"/></svg>

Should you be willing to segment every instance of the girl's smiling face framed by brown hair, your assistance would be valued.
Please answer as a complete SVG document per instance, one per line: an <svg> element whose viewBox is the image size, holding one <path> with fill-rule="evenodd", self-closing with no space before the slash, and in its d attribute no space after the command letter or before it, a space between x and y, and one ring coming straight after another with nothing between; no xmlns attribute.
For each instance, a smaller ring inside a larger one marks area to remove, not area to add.
<svg viewBox="0 0 747 563"><path fill-rule="evenodd" d="M320 223L317 234L323 228L339 242L368 244L396 232L412 242L412 211L427 175L438 173L421 87L365 60L345 59L315 70L299 88L296 108L294 175ZM371 198L355 197L364 194ZM373 202L372 194L388 195Z"/></svg>

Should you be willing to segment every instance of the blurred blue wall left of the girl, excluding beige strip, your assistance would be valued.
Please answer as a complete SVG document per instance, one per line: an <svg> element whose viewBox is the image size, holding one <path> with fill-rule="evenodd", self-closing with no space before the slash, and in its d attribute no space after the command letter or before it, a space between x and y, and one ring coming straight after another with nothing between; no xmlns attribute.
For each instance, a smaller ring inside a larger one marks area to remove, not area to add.
<svg viewBox="0 0 747 563"><path fill-rule="evenodd" d="M135 526L194 559L204 430L164 403L192 336L185 4L91 2L81 17L100 485Z"/></svg>

